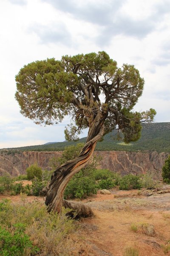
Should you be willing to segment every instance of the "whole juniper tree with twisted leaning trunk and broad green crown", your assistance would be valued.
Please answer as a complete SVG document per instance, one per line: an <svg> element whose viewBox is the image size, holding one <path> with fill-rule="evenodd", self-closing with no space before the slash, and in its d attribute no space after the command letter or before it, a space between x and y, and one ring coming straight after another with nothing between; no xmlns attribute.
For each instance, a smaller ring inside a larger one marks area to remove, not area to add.
<svg viewBox="0 0 170 256"><path fill-rule="evenodd" d="M156 114L153 109L133 111L142 95L144 79L133 65L117 67L104 51L32 62L21 68L16 82L15 97L21 113L36 124L57 124L64 116L71 116L66 140L77 140L88 128L79 156L58 166L44 190L48 211L60 212L68 181L88 163L103 135L117 128L125 143L136 141L141 123L153 121ZM70 206L66 201L64 204Z"/></svg>

